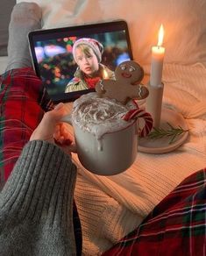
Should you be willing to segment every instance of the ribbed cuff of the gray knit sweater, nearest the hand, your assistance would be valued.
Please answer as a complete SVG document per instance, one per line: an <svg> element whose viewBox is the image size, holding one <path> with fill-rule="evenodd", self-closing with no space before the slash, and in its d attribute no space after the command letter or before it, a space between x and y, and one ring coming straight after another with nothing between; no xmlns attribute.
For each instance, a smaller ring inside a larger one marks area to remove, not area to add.
<svg viewBox="0 0 206 256"><path fill-rule="evenodd" d="M1 192L1 214L33 221L42 217L53 221L67 218L72 209L75 178L76 167L60 147L46 141L30 141Z"/></svg>

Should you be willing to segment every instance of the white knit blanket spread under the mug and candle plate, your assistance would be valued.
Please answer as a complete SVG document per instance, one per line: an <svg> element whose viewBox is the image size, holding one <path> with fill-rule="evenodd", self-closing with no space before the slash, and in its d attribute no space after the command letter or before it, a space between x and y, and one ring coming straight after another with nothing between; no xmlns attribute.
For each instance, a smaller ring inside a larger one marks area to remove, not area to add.
<svg viewBox="0 0 206 256"><path fill-rule="evenodd" d="M149 74L150 67L144 67ZM75 201L82 221L83 253L98 255L133 230L186 176L206 167L206 68L164 67L163 104L186 119L184 145L164 154L138 153L138 167L103 177L79 166Z"/></svg>

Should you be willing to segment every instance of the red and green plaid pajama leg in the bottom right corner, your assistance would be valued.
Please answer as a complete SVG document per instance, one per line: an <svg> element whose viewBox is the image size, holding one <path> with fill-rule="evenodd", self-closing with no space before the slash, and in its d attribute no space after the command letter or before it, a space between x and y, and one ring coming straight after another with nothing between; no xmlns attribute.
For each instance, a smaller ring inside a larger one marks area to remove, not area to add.
<svg viewBox="0 0 206 256"><path fill-rule="evenodd" d="M206 255L206 169L174 189L139 227L103 256Z"/></svg>

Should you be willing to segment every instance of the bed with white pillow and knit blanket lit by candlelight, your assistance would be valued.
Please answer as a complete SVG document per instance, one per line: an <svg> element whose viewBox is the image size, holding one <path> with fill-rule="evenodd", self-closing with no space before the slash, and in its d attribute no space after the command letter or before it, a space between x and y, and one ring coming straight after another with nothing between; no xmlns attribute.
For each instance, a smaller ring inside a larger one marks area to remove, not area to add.
<svg viewBox="0 0 206 256"><path fill-rule="evenodd" d="M137 227L185 177L206 167L206 0L24 2L42 7L43 28L123 18L145 81L150 75L151 47L160 24L165 27L163 106L182 115L189 129L187 140L170 153L139 152L131 168L108 177L89 173L73 155L78 167L75 202L82 222L83 255L100 255ZM1 52L1 73L6 61L6 52Z"/></svg>

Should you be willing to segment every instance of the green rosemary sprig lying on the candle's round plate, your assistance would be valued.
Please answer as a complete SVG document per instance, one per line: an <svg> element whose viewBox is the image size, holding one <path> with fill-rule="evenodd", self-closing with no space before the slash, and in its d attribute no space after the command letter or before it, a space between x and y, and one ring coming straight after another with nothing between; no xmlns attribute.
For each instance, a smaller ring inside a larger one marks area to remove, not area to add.
<svg viewBox="0 0 206 256"><path fill-rule="evenodd" d="M153 131L149 133L148 137L150 139L161 139L163 137L171 137L168 143L172 144L177 136L180 136L183 132L188 132L188 130L182 129L180 125L175 128L172 124L167 124L169 125L169 129L167 130L163 128L153 127Z"/></svg>

